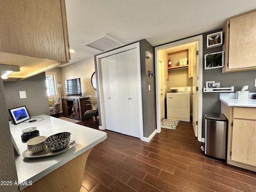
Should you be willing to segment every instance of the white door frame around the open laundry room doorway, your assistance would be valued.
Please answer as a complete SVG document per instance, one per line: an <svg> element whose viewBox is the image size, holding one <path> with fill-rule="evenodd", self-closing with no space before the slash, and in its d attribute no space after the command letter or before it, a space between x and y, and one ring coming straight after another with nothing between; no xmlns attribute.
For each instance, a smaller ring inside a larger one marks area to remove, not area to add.
<svg viewBox="0 0 256 192"><path fill-rule="evenodd" d="M180 46L183 44L188 44L198 41L198 141L202 142L202 74L203 74L203 35L194 36L191 38L187 38L184 40L164 44L161 46L155 47L155 70L156 74L158 74L158 60L159 55L158 51L166 48L171 48L175 46ZM159 95L159 80L156 78L156 95ZM160 120L160 100L156 97L156 131L158 133L161 132L161 120Z"/></svg>

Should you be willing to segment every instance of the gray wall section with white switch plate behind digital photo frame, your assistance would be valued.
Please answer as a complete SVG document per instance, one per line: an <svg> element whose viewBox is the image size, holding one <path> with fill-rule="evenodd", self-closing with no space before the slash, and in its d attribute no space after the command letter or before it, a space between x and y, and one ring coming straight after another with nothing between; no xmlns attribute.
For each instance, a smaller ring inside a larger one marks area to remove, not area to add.
<svg viewBox="0 0 256 192"><path fill-rule="evenodd" d="M8 109L25 105L30 116L50 115L45 72L18 82L4 81L3 84ZM20 91L26 91L27 98L21 99Z"/></svg>

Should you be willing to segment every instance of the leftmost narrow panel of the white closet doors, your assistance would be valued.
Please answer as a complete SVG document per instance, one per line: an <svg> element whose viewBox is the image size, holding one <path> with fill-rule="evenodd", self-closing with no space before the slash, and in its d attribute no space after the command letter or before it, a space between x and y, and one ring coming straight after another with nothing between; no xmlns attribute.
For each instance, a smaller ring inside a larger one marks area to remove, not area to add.
<svg viewBox="0 0 256 192"><path fill-rule="evenodd" d="M112 130L112 115L111 115L111 104L110 104L110 90L109 90L109 79L108 79L108 58L100 59L100 68L101 68L101 75L102 75L102 95L103 95L103 102L105 111L105 122L106 122L106 129Z"/></svg>

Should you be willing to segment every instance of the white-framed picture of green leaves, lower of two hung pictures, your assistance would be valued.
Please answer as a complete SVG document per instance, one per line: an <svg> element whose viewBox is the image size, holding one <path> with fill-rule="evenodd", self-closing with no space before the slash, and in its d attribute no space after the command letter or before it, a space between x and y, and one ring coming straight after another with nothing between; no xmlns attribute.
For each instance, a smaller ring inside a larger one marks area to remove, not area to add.
<svg viewBox="0 0 256 192"><path fill-rule="evenodd" d="M204 55L204 69L222 68L224 66L224 51Z"/></svg>

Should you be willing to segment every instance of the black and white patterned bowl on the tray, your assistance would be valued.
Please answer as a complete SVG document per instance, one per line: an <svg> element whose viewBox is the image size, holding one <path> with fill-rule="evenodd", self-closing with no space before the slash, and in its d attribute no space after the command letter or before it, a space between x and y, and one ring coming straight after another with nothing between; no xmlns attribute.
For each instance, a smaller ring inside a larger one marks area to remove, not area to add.
<svg viewBox="0 0 256 192"><path fill-rule="evenodd" d="M46 146L52 151L60 151L69 144L70 132L61 132L51 135L45 139Z"/></svg>

